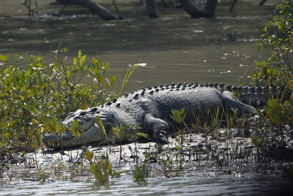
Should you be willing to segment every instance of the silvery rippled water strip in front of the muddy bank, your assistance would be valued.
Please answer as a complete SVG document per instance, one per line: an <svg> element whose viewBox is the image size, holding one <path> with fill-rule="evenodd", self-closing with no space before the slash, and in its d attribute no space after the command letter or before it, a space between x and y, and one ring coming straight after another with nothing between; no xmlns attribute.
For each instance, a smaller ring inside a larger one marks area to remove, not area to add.
<svg viewBox="0 0 293 196"><path fill-rule="evenodd" d="M92 181L60 181L46 184L5 185L0 195L234 195L277 196L286 195L290 181L280 176L258 176L257 174L218 177L174 177L148 178L134 182L133 179L110 180L101 185Z"/></svg>

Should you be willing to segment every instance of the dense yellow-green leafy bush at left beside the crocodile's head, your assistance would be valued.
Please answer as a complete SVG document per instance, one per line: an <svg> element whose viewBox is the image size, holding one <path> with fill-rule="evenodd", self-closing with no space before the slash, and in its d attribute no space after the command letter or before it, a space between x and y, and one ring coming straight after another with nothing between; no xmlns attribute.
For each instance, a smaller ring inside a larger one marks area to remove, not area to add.
<svg viewBox="0 0 293 196"><path fill-rule="evenodd" d="M109 64L99 59L86 64L87 56L81 51L68 63L66 51L53 51L55 62L49 64L40 56L31 56L26 70L19 68L22 56L15 56L11 65L8 55L0 55L5 65L0 69L0 147L35 149L43 132L65 131L61 121L68 113L105 102L105 90L116 81L114 76L104 78ZM95 82L83 84L86 76ZM73 130L76 135L77 129Z"/></svg>

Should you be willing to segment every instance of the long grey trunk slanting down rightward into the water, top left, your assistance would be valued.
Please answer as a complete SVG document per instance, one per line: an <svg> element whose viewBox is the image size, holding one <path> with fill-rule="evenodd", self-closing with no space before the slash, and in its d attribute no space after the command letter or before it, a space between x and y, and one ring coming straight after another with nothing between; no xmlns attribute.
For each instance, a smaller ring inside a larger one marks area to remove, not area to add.
<svg viewBox="0 0 293 196"><path fill-rule="evenodd" d="M113 14L103 6L98 3L92 2L92 0L56 0L58 3L64 5L80 5L88 8L93 13L99 15L101 18L105 20L119 20L121 17Z"/></svg>

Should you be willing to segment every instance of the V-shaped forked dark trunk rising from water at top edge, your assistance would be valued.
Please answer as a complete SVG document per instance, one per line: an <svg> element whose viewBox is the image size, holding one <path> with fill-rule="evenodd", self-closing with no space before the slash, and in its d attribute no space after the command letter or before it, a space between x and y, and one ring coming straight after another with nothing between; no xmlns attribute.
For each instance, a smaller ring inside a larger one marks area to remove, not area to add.
<svg viewBox="0 0 293 196"><path fill-rule="evenodd" d="M200 10L193 0L180 0L183 9L194 18L213 17L215 15L217 0L207 0L204 9Z"/></svg>

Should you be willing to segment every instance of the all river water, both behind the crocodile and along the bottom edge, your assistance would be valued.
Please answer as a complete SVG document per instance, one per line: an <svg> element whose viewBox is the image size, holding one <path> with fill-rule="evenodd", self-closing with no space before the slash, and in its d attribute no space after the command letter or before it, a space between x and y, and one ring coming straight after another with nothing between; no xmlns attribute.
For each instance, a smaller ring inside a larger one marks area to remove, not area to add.
<svg viewBox="0 0 293 196"><path fill-rule="evenodd" d="M62 42L68 48L68 63L81 49L88 61L98 56L109 62L109 74L116 75L120 82L128 64L156 66L136 70L128 90L179 81L237 85L244 71L252 73L255 60L268 56L268 52L256 52L255 41L274 15L278 2L269 0L258 7L255 0L242 0L234 14L230 14L230 1L222 1L216 17L210 19L191 19L182 10L161 8L160 18L148 19L138 0L116 1L125 20L101 20L77 6L66 8L66 16L52 17L45 13L54 13L60 6L49 5L49 1L39 1L38 17L27 17L27 10L19 0L1 0L0 54L10 54L10 62L16 54L42 55L50 63L54 62L50 51ZM113 11L110 1L101 4ZM226 35L233 30L241 33L235 41ZM25 68L25 63L21 66ZM21 181L1 184L0 195L279 195L287 185L281 176L255 173L149 177L140 183L125 177L111 180L106 186L93 180L45 184Z"/></svg>

